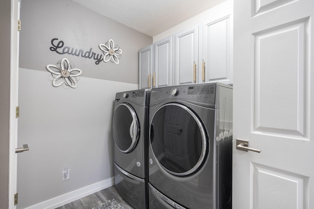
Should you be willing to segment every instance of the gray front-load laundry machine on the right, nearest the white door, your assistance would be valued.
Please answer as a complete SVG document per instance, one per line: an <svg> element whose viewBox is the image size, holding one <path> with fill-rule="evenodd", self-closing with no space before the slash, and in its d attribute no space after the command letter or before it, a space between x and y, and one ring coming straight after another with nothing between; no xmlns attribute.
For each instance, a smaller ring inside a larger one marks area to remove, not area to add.
<svg viewBox="0 0 314 209"><path fill-rule="evenodd" d="M232 86L151 91L149 209L232 208Z"/></svg>

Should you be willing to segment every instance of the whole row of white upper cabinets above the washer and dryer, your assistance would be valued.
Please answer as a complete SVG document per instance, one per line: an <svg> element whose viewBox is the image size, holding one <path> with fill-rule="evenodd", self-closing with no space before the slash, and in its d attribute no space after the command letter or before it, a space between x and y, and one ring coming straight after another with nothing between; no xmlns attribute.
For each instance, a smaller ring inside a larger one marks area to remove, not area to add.
<svg viewBox="0 0 314 209"><path fill-rule="evenodd" d="M140 89L213 81L233 84L232 1L204 17L203 23L139 51Z"/></svg>

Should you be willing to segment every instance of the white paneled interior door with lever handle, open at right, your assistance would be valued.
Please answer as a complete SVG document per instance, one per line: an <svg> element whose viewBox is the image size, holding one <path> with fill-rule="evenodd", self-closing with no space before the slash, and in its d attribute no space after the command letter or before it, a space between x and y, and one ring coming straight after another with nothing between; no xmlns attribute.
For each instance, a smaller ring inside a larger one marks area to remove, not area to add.
<svg viewBox="0 0 314 209"><path fill-rule="evenodd" d="M234 209L314 209L313 18L314 0L234 0Z"/></svg>

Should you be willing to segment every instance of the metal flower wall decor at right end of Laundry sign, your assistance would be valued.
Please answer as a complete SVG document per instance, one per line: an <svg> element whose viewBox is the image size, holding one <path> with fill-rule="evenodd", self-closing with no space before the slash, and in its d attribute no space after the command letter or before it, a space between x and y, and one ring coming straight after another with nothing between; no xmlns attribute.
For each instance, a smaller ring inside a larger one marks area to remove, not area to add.
<svg viewBox="0 0 314 209"><path fill-rule="evenodd" d="M109 62L109 60L115 64L119 64L119 59L121 58L122 49L120 46L114 46L114 42L110 39L105 44L100 44L99 48L104 53L104 62Z"/></svg>

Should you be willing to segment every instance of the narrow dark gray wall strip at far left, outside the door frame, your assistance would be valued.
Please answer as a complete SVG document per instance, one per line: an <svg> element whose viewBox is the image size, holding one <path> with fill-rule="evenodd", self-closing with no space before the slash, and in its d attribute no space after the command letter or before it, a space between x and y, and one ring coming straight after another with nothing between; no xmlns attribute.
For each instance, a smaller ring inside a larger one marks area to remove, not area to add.
<svg viewBox="0 0 314 209"><path fill-rule="evenodd" d="M0 209L8 208L11 1L0 1Z"/></svg>

